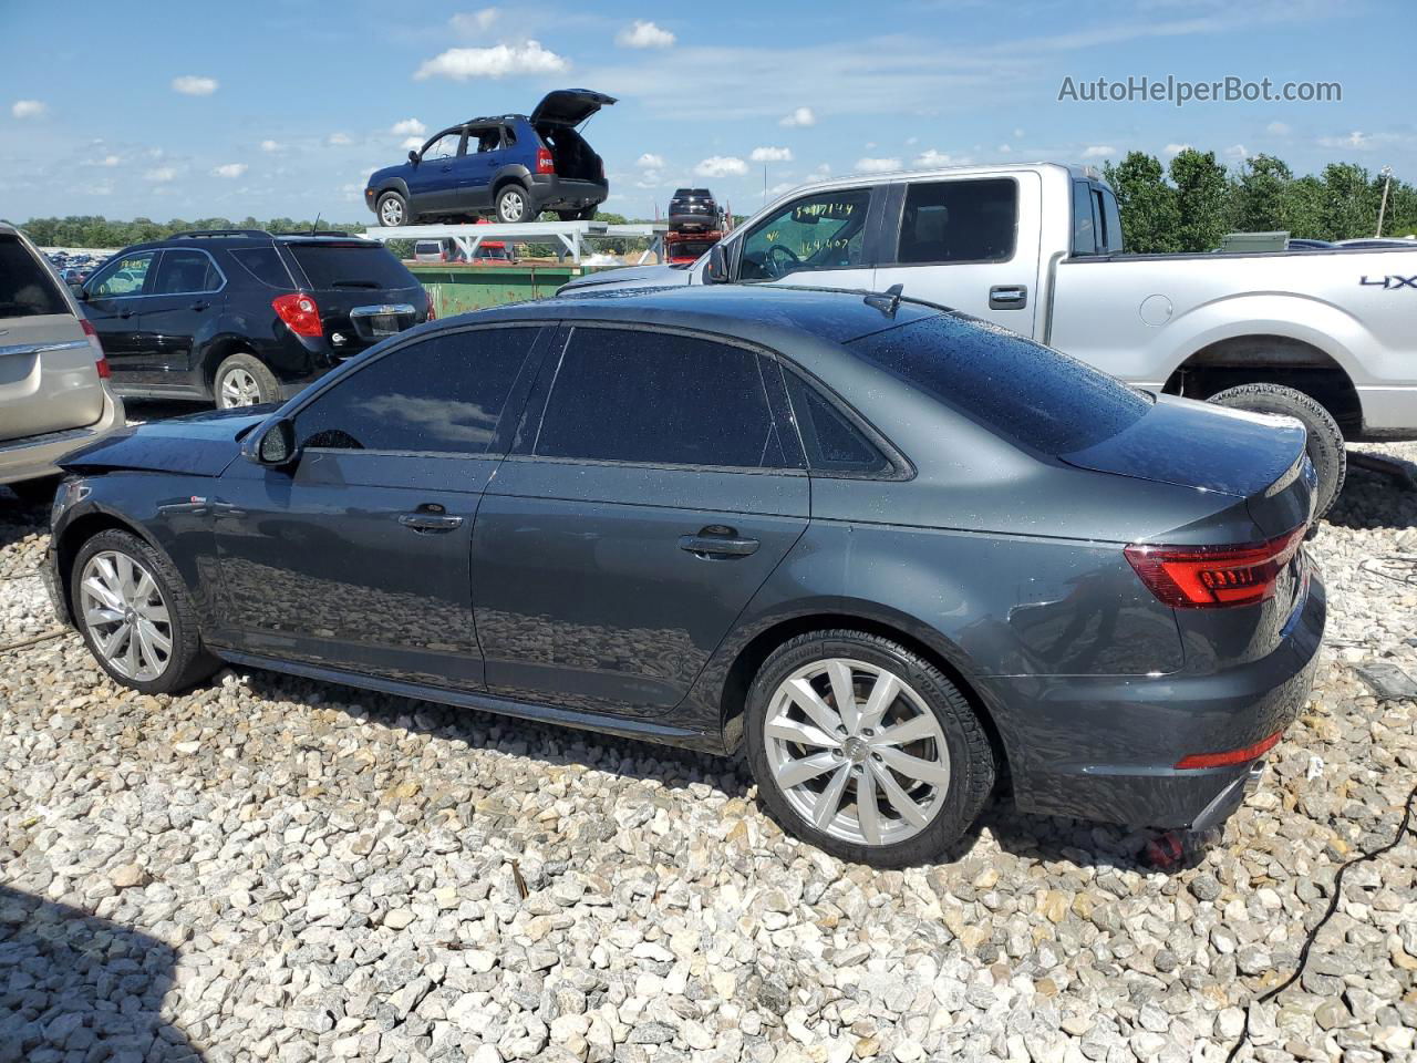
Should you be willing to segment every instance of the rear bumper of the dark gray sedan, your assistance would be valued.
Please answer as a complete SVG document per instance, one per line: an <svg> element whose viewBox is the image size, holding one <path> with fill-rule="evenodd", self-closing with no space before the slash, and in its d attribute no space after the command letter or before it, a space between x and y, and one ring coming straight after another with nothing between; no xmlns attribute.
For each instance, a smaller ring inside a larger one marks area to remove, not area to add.
<svg viewBox="0 0 1417 1063"><path fill-rule="evenodd" d="M1315 571L1280 645L1206 676L993 679L1020 811L1153 828L1203 829L1244 799L1258 761L1179 770L1182 757L1253 746L1282 731L1314 686L1326 601Z"/></svg>

